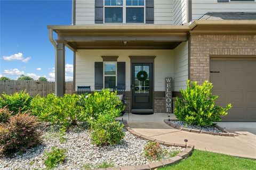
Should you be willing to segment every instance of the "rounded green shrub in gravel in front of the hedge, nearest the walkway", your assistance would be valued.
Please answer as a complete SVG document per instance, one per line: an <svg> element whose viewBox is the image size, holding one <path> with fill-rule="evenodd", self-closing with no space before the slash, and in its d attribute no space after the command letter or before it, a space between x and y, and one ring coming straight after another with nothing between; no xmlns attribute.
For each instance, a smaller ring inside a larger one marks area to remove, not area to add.
<svg viewBox="0 0 256 170"><path fill-rule="evenodd" d="M115 121L113 115L100 115L92 124L91 141L98 146L115 145L121 142L124 125Z"/></svg>

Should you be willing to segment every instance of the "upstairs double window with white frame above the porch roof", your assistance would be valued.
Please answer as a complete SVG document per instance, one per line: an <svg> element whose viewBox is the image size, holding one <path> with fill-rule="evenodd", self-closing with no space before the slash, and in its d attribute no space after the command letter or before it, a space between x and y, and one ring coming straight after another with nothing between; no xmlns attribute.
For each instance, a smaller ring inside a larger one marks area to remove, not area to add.
<svg viewBox="0 0 256 170"><path fill-rule="evenodd" d="M145 0L105 0L104 23L145 23Z"/></svg>

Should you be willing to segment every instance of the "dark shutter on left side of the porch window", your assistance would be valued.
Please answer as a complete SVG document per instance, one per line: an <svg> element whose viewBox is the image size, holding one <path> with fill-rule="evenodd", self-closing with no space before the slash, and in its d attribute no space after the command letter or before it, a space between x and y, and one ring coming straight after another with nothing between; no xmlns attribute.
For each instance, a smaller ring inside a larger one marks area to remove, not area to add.
<svg viewBox="0 0 256 170"><path fill-rule="evenodd" d="M95 62L94 73L95 90L101 90L103 89L103 62Z"/></svg>

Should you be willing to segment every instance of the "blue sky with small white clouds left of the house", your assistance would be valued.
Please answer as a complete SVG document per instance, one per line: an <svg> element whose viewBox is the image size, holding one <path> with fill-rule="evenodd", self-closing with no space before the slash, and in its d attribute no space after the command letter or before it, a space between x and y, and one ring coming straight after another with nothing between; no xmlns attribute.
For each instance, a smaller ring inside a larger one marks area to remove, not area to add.
<svg viewBox="0 0 256 170"><path fill-rule="evenodd" d="M0 77L20 74L54 81L54 47L47 25L71 24L71 0L0 0ZM66 47L66 81L73 80L73 52Z"/></svg>

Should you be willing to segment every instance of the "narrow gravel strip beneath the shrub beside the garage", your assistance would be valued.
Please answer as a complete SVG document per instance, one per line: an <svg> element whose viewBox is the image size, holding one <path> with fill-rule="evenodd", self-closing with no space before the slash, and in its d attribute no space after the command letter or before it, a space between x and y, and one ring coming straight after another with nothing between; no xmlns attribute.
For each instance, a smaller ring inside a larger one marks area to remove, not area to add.
<svg viewBox="0 0 256 170"><path fill-rule="evenodd" d="M196 125L188 125L185 122L182 121L169 121L172 124L176 124L181 126L182 128L187 128L187 129L196 129L196 130L201 130L201 131L206 131L206 132L213 132L213 133L223 133L221 130L216 128L215 126L208 126L208 127L203 127L203 126L196 126Z"/></svg>

